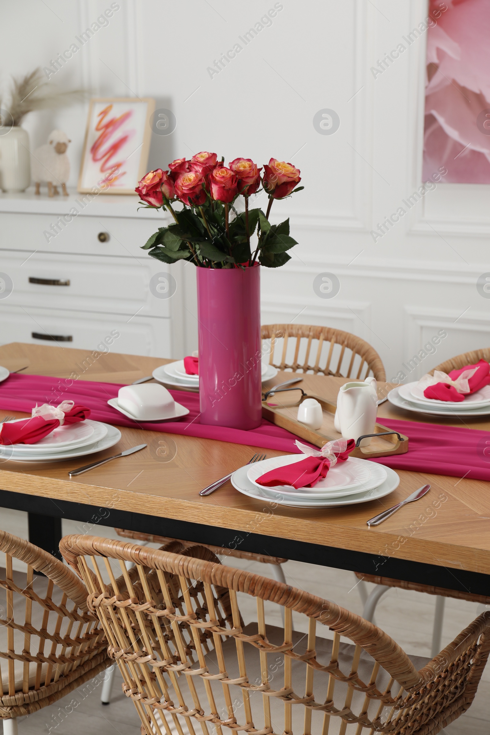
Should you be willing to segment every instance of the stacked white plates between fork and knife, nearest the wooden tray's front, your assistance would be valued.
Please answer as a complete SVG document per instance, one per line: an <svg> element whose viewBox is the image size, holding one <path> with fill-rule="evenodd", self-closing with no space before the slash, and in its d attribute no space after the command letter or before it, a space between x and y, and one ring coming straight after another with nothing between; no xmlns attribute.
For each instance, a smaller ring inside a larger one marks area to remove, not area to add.
<svg viewBox="0 0 490 735"><path fill-rule="evenodd" d="M259 484L259 477L266 472L293 465L302 459L305 459L304 454L290 454L245 465L233 473L231 483L243 495L269 503L294 508L333 508L383 498L393 492L400 482L397 473L389 467L368 462L367 459L349 457L346 462L331 467L327 476L314 487L300 487L297 490L289 485L262 487Z"/></svg>

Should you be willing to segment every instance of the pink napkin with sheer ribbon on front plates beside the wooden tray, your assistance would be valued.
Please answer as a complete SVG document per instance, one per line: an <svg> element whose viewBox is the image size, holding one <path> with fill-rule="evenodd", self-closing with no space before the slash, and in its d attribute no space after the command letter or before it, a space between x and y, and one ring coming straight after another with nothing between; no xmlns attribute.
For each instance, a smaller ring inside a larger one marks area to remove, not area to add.
<svg viewBox="0 0 490 735"><path fill-rule="evenodd" d="M345 462L356 442L353 439L336 439L327 442L320 451L312 449L296 440L296 446L307 456L300 462L284 465L270 470L256 480L263 487L289 485L299 490L300 487L314 487L319 480L327 476L328 470L337 462Z"/></svg>

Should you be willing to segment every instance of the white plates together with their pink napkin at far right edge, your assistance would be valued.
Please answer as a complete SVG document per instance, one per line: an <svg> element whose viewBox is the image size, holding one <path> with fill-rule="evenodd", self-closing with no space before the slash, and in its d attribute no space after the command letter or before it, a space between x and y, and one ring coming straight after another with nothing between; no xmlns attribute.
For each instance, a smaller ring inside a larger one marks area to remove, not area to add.
<svg viewBox="0 0 490 735"><path fill-rule="evenodd" d="M433 416L484 416L490 414L490 365L475 365L444 373L434 370L419 381L400 385L388 393L398 408Z"/></svg>

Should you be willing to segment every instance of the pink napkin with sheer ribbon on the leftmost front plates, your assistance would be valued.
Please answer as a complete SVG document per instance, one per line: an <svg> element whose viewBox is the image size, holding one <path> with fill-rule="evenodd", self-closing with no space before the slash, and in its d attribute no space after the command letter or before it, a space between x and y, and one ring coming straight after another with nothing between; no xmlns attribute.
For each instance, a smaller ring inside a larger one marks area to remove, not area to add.
<svg viewBox="0 0 490 735"><path fill-rule="evenodd" d="M58 426L79 423L90 416L90 409L63 401L59 406L43 404L32 409L32 417L0 424L0 445L35 444Z"/></svg>

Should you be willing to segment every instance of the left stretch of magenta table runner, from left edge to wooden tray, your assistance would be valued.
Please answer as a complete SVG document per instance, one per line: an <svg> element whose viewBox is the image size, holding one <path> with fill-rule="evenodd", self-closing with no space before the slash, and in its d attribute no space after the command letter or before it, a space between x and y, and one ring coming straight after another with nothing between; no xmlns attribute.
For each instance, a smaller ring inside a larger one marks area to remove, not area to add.
<svg viewBox="0 0 490 735"><path fill-rule="evenodd" d="M296 436L280 426L262 419L257 429L242 431L223 426L201 426L199 423L199 395L185 390L170 390L177 403L190 410L179 421L165 423L134 422L107 404L109 398L117 398L122 384L96 383L87 380L68 380L39 375L15 375L0 383L0 409L4 411L24 411L30 415L36 404L57 406L62 401L75 401L92 410L90 418L117 426L130 426L132 429L164 431L165 434L183 434L203 439L216 439L254 447L277 449L278 451L299 454L295 445Z"/></svg>

